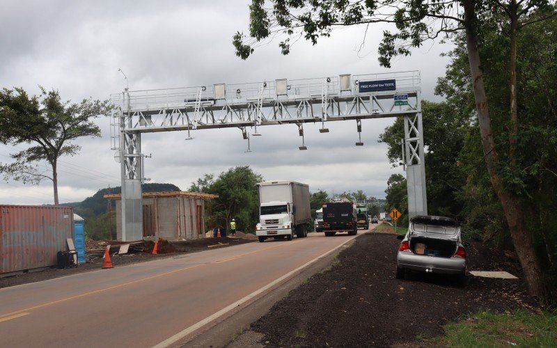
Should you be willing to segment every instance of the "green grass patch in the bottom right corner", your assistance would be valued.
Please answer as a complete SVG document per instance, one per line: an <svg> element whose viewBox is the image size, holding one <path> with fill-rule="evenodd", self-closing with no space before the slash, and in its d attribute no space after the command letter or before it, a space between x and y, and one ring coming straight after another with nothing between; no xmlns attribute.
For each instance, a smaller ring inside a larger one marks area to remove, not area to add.
<svg viewBox="0 0 557 348"><path fill-rule="evenodd" d="M556 347L557 314L480 312L447 324L444 336L421 340L450 347Z"/></svg>

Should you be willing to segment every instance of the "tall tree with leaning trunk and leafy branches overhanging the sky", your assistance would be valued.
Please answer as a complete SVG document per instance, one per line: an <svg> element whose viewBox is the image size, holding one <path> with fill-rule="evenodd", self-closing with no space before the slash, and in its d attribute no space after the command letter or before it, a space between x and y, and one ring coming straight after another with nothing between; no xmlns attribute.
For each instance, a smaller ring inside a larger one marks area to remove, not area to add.
<svg viewBox="0 0 557 348"><path fill-rule="evenodd" d="M290 52L290 38L303 36L314 45L320 36L329 36L335 27L378 22L393 23L397 31L384 31L379 45L379 63L390 68L395 56L408 56L411 47L420 47L425 40L439 35L463 31L466 35L466 54L469 74L476 104L476 116L481 135L483 158L489 178L501 201L513 244L519 255L528 291L542 295L540 264L536 259L531 236L524 223L521 200L503 182L502 171L517 175L519 168L515 152L518 138L517 109L517 37L525 26L542 22L555 15L549 0L328 0L328 1L272 1L272 8L264 8L264 0L252 0L250 9L249 38L237 32L233 45L237 56L245 59L253 53L253 43L273 38L283 33L287 38L278 45L283 54ZM493 15L495 14L495 15ZM480 59L481 32L487 19L495 18L501 35L508 38L508 72L510 95L510 127L508 161L501 161L501 145L494 141L492 120L489 115L483 66ZM499 149L498 149L499 148ZM501 168L503 167L503 168Z"/></svg>

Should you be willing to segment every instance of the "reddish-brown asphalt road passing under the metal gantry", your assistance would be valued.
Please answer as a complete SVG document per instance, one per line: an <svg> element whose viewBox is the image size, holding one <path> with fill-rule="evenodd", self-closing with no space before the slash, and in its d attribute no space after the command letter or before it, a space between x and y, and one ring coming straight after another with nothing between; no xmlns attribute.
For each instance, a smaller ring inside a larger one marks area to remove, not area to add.
<svg viewBox="0 0 557 348"><path fill-rule="evenodd" d="M268 239L6 287L0 289L1 345L175 345L353 238Z"/></svg>

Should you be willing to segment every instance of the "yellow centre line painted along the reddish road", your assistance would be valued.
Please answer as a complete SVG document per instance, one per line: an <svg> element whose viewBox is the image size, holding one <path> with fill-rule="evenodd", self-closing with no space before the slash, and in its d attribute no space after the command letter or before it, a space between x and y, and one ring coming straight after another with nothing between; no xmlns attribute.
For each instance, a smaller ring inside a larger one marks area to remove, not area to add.
<svg viewBox="0 0 557 348"><path fill-rule="evenodd" d="M249 253L243 253L243 254L237 255L237 256L235 256L235 257L233 257L233 258L222 259L222 260L217 260L217 261L214 261L214 262L210 262L210 264L226 262L226 261L234 260L234 259L236 259L236 258L242 258L243 256L251 255L251 254L253 254L253 253L259 253L260 251L265 251L265 250L269 250L269 249L274 249L274 248L278 248L278 247L280 247L280 246L285 246L285 245L292 245L292 244L294 244L294 243L296 243L296 242L280 244L280 245L277 245L277 246L269 246L268 248L262 248L262 249L259 249L259 250L256 250L256 251L250 251ZM113 286L111 286L111 287L104 287L104 288L102 288L102 289L97 289L97 290L93 290L93 291L89 291L89 292L84 292L84 293L82 293L82 294L77 294L77 295L74 295L74 296L65 297L64 299L59 299L59 300L56 300L56 301L50 301L50 302L47 302L47 303L42 303L42 304L39 304L39 305L37 305L37 306L32 306L32 307L29 307L29 308L24 308L24 309L22 309L22 310L16 310L15 312L11 312L11 313L6 313L6 314L0 315L0 322L3 322L4 320L13 319L13 318L15 318L15 317L22 317L22 316L24 316L24 315L28 315L28 314L29 314L29 313L22 313L22 312L29 312L29 311L31 311L31 310L36 310L36 309L38 309L38 308L42 308L42 307L54 305L54 304L56 304L56 303L61 303L61 302L65 302L65 301L70 301L70 300L73 300L73 299L79 299L80 297L84 297L84 296L88 296L88 295L92 295L92 294L98 294L98 293L100 293L100 292L104 292L104 291L107 291L107 290L118 289L119 287L125 287L125 286L127 286L127 285L132 285L132 284L140 283L140 282L145 281L145 280L151 280L151 279L155 279L155 278L160 278L160 277L162 277L162 276L168 276L169 274L175 274L175 273L178 273L178 272L181 272L181 271L187 271L188 269L194 269L194 268L196 268L196 267L200 267L200 266L204 266L204 265L206 265L206 264L205 264L205 263L203 263L203 264L195 264L194 266L189 266L189 267L185 267L185 268L181 268L181 269L175 269L174 271L168 271L168 272L165 272L165 273L162 273L162 274L156 274L155 276L148 276L148 277L146 277L146 278L141 278L141 279L132 280L132 281L127 282L127 283L122 283L122 284L118 284L118 285L113 285Z"/></svg>

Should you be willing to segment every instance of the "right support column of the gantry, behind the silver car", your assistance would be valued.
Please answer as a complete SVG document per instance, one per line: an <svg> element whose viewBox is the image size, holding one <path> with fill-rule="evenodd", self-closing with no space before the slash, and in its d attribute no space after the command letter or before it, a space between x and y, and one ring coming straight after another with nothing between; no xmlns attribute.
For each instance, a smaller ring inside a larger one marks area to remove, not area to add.
<svg viewBox="0 0 557 348"><path fill-rule="evenodd" d="M418 95L418 113L415 116L405 116L405 155L409 218L416 215L427 215L423 125L420 102L421 100Z"/></svg>

